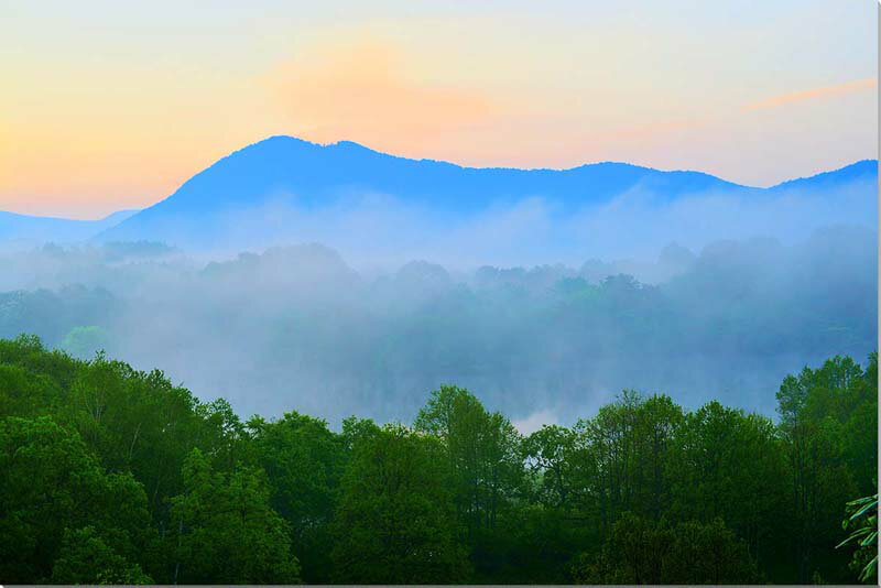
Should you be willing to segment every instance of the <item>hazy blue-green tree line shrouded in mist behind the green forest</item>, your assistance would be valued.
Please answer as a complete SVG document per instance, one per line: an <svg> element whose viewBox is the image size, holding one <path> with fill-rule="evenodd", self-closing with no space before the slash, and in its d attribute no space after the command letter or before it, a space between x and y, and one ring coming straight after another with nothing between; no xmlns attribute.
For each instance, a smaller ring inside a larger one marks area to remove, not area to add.
<svg viewBox="0 0 881 588"><path fill-rule="evenodd" d="M784 374L875 349L877 244L838 227L671 246L642 264L381 271L318 244L213 262L156 243L46 246L0 251L0 337L162 367L248 415L409 421L420 392L450 382L512 417L580 414L624 388L770 415Z"/></svg>

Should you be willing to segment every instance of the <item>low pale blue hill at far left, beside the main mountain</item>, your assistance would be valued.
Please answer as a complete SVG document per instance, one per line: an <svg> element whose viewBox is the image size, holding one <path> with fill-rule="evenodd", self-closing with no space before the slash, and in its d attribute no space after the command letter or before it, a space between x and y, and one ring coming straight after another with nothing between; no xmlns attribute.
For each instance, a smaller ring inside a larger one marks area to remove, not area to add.
<svg viewBox="0 0 881 588"><path fill-rule="evenodd" d="M44 242L85 241L137 213L119 210L98 220L74 220L0 211L0 242L7 247L33 247Z"/></svg>

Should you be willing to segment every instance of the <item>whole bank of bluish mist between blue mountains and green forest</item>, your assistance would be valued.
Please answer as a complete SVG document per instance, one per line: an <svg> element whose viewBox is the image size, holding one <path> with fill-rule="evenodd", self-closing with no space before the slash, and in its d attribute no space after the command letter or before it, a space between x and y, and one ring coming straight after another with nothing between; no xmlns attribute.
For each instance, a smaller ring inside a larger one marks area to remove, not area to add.
<svg viewBox="0 0 881 588"><path fill-rule="evenodd" d="M786 373L875 348L877 205L839 196L629 194L563 221L532 199L446 230L382 200L372 217L297 217L334 248L47 244L0 255L0 336L105 349L241 414L334 426L410 420L446 383L523 431L626 388L772 415Z"/></svg>

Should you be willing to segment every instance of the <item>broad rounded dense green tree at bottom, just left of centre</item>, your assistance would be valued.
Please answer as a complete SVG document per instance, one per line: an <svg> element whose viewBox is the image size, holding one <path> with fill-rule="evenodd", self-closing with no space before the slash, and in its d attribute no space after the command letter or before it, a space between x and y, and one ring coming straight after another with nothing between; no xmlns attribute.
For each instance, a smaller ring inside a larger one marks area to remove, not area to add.
<svg viewBox="0 0 881 588"><path fill-rule="evenodd" d="M467 578L449 462L434 438L387 425L358 439L335 520L334 579L447 584Z"/></svg>

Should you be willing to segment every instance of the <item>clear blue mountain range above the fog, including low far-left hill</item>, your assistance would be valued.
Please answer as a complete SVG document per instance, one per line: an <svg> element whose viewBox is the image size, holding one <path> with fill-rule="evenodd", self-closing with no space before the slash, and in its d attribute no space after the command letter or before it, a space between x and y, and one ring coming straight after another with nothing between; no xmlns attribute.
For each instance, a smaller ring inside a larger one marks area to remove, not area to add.
<svg viewBox="0 0 881 588"><path fill-rule="evenodd" d="M642 193L665 204L698 194L749 194L877 184L878 162L861 161L808 178L754 188L699 172L663 172L626 163L596 163L570 170L463 167L410 160L340 141L320 145L273 137L239 150L189 178L164 200L140 211L99 221L0 214L0 240L165 241L183 247L229 247L231 230L249 211L272 220L280 210L300 214L345 208L354 203L393 200L455 222L530 198L557 213L576 213L620 195ZM251 221L253 218L249 217ZM279 219L275 218L278 221ZM284 222L282 222L284 225ZM278 237L284 227L273 228ZM232 231L235 232L235 231ZM296 240L296 235L289 236ZM331 243L333 244L333 243Z"/></svg>

